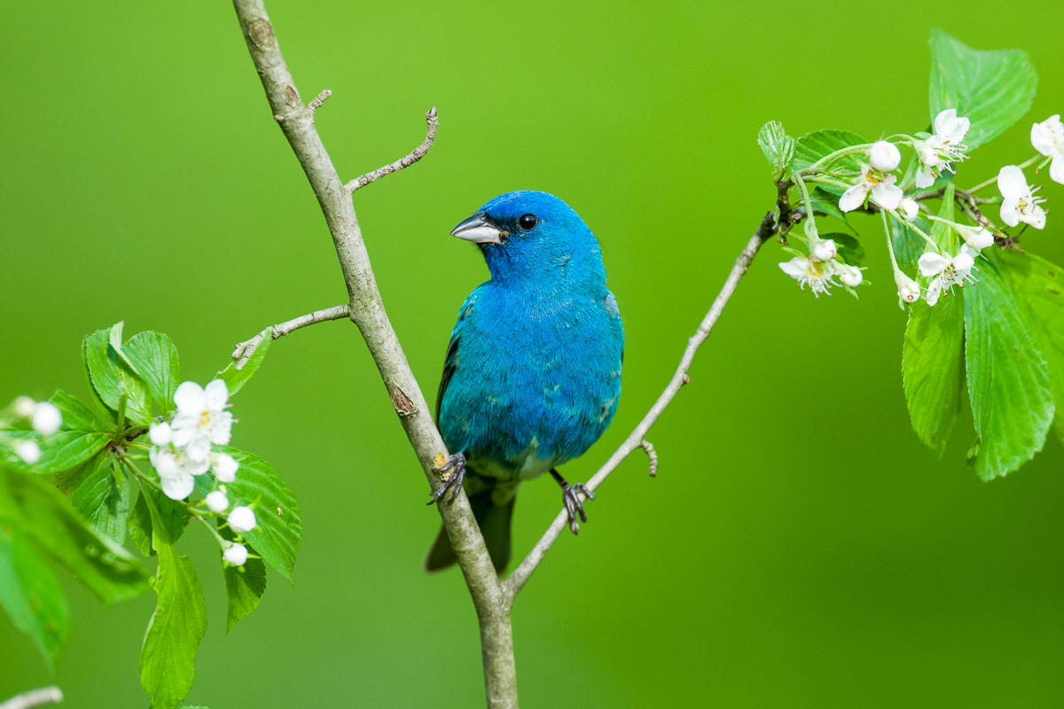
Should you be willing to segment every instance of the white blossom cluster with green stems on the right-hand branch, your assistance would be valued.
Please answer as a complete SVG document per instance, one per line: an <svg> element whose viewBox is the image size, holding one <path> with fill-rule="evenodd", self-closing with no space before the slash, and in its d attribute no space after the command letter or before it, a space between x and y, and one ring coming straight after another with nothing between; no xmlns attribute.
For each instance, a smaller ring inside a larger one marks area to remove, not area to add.
<svg viewBox="0 0 1064 709"><path fill-rule="evenodd" d="M795 171L795 182L805 200L807 212L810 213L805 223L809 255L788 249L795 257L781 263L780 268L795 278L799 287L804 289L809 286L813 294L819 297L820 293L830 294L832 287L839 286L838 281L842 281L842 285L851 292L852 288L862 282L861 269L838 260L834 242L819 238L803 181L845 188L838 199L838 208L843 213L853 212L867 205L870 210L883 215L894 266L894 281L898 288L898 304L901 307L915 303L921 297L929 305L934 305L943 292L951 293L953 286L964 287L978 283L972 271L978 271L976 263L980 250L995 242L992 230L996 227L976 208L972 195L993 184L993 181L982 183L970 192L958 190L959 198L965 195L965 199L971 204L972 209L968 210L965 207L965 212L972 221L978 221L982 225L962 224L930 214L922 216L921 225L926 220L944 222L947 226L946 235L955 234L960 237L960 239L951 237L948 240L953 244L960 242L961 246L955 252L951 247L944 247L942 241L936 241L925 233L916 223L917 218L921 217L919 200L937 199L945 193L952 195L952 191L920 193L919 190L934 185L944 172L955 174L954 166L967 159L968 147L963 141L971 128L971 122L963 116L958 116L954 108L947 108L935 116L932 128L933 133L892 136L874 144L843 148L821 158L813 166L814 169ZM904 172L904 176L899 176L896 172L901 165L899 146L908 146L913 152L913 162ZM1000 218L1007 226L1024 223L1041 230L1046 225L1046 210L1042 206L1045 199L1037 196L1040 187L1028 184L1024 168L1041 163L1035 168L1037 171L1049 165L1049 176L1054 182L1064 184L1064 124L1061 123L1060 115L1051 116L1031 126L1031 146L1040 155L1023 165L1007 165L998 173L997 186L1001 192ZM855 174L853 168L847 170L830 167L833 161L837 162L846 155L858 157L855 162L860 169ZM815 168L819 165L828 165L829 168L820 170L821 174L817 174ZM907 275L899 267L890 231L891 219L896 221L898 229L912 231L930 246L916 264L919 275L926 278L922 282L927 284L926 286L921 287L920 283Z"/></svg>

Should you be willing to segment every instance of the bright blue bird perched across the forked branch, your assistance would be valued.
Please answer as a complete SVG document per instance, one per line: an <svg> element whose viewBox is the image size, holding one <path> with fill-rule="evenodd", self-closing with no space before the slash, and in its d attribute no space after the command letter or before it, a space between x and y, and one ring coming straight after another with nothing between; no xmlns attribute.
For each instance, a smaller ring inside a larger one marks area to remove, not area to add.
<svg viewBox="0 0 1064 709"><path fill-rule="evenodd" d="M522 480L549 472L572 533L578 516L587 521L578 492L594 495L556 468L591 448L617 410L625 331L595 235L553 195L501 195L451 235L480 248L492 278L462 304L447 347L436 423L453 455L429 504L464 488L502 571ZM425 567L454 561L440 529Z"/></svg>

